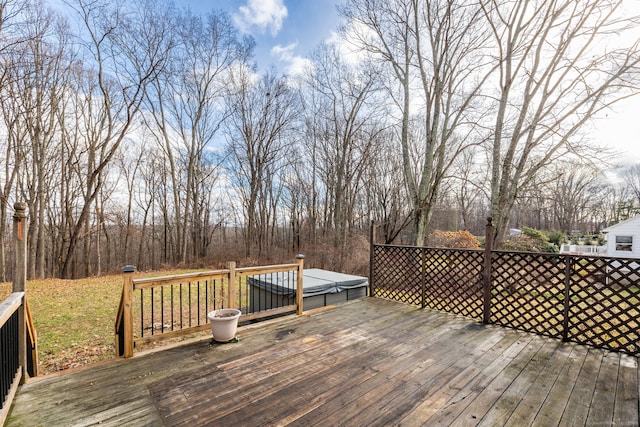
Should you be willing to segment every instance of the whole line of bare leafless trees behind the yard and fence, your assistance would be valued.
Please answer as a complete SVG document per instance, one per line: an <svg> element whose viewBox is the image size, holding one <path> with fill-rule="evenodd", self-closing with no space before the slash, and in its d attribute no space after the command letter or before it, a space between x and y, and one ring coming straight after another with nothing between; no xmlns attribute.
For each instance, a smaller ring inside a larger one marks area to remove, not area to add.
<svg viewBox="0 0 640 427"><path fill-rule="evenodd" d="M487 216L498 243L597 230L640 201L585 130L637 91L637 43L606 44L622 7L350 0L343 41L286 75L223 12L0 0L0 273L16 201L30 277L297 252L343 269L371 221L412 244Z"/></svg>

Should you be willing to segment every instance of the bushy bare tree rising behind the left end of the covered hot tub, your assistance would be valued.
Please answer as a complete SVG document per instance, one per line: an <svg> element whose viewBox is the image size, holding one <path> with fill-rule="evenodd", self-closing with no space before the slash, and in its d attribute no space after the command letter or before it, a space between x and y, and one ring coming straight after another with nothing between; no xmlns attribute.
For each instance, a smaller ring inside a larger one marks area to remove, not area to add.
<svg viewBox="0 0 640 427"><path fill-rule="evenodd" d="M296 93L285 77L255 78L246 68L236 70L228 99L229 173L243 203L247 257L254 244L258 256L269 245L269 224L276 214L273 202L280 196L279 172L289 154L297 105Z"/></svg>

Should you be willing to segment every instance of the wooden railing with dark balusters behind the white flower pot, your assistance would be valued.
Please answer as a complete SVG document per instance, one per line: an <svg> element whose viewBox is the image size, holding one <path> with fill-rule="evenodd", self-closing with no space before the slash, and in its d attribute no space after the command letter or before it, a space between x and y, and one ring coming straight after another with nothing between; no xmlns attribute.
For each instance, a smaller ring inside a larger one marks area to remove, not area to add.
<svg viewBox="0 0 640 427"><path fill-rule="evenodd" d="M204 331L207 313L220 308L239 309L240 322L301 314L304 257L296 261L245 268L231 262L222 270L135 279L135 268L124 267L116 355L131 357L137 346Z"/></svg>

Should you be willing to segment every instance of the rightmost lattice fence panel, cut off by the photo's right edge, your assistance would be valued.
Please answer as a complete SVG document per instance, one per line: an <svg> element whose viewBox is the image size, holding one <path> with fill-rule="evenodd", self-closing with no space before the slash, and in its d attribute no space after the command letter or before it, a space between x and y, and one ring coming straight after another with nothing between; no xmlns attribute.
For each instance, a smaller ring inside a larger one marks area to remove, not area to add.
<svg viewBox="0 0 640 427"><path fill-rule="evenodd" d="M640 355L640 264L574 258L568 339Z"/></svg>

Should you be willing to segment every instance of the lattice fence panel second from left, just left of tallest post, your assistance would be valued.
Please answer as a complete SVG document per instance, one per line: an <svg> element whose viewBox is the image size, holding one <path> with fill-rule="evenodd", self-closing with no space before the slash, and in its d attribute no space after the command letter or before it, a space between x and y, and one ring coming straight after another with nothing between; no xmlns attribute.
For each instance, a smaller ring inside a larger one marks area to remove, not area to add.
<svg viewBox="0 0 640 427"><path fill-rule="evenodd" d="M483 252L424 249L425 307L482 319Z"/></svg>

